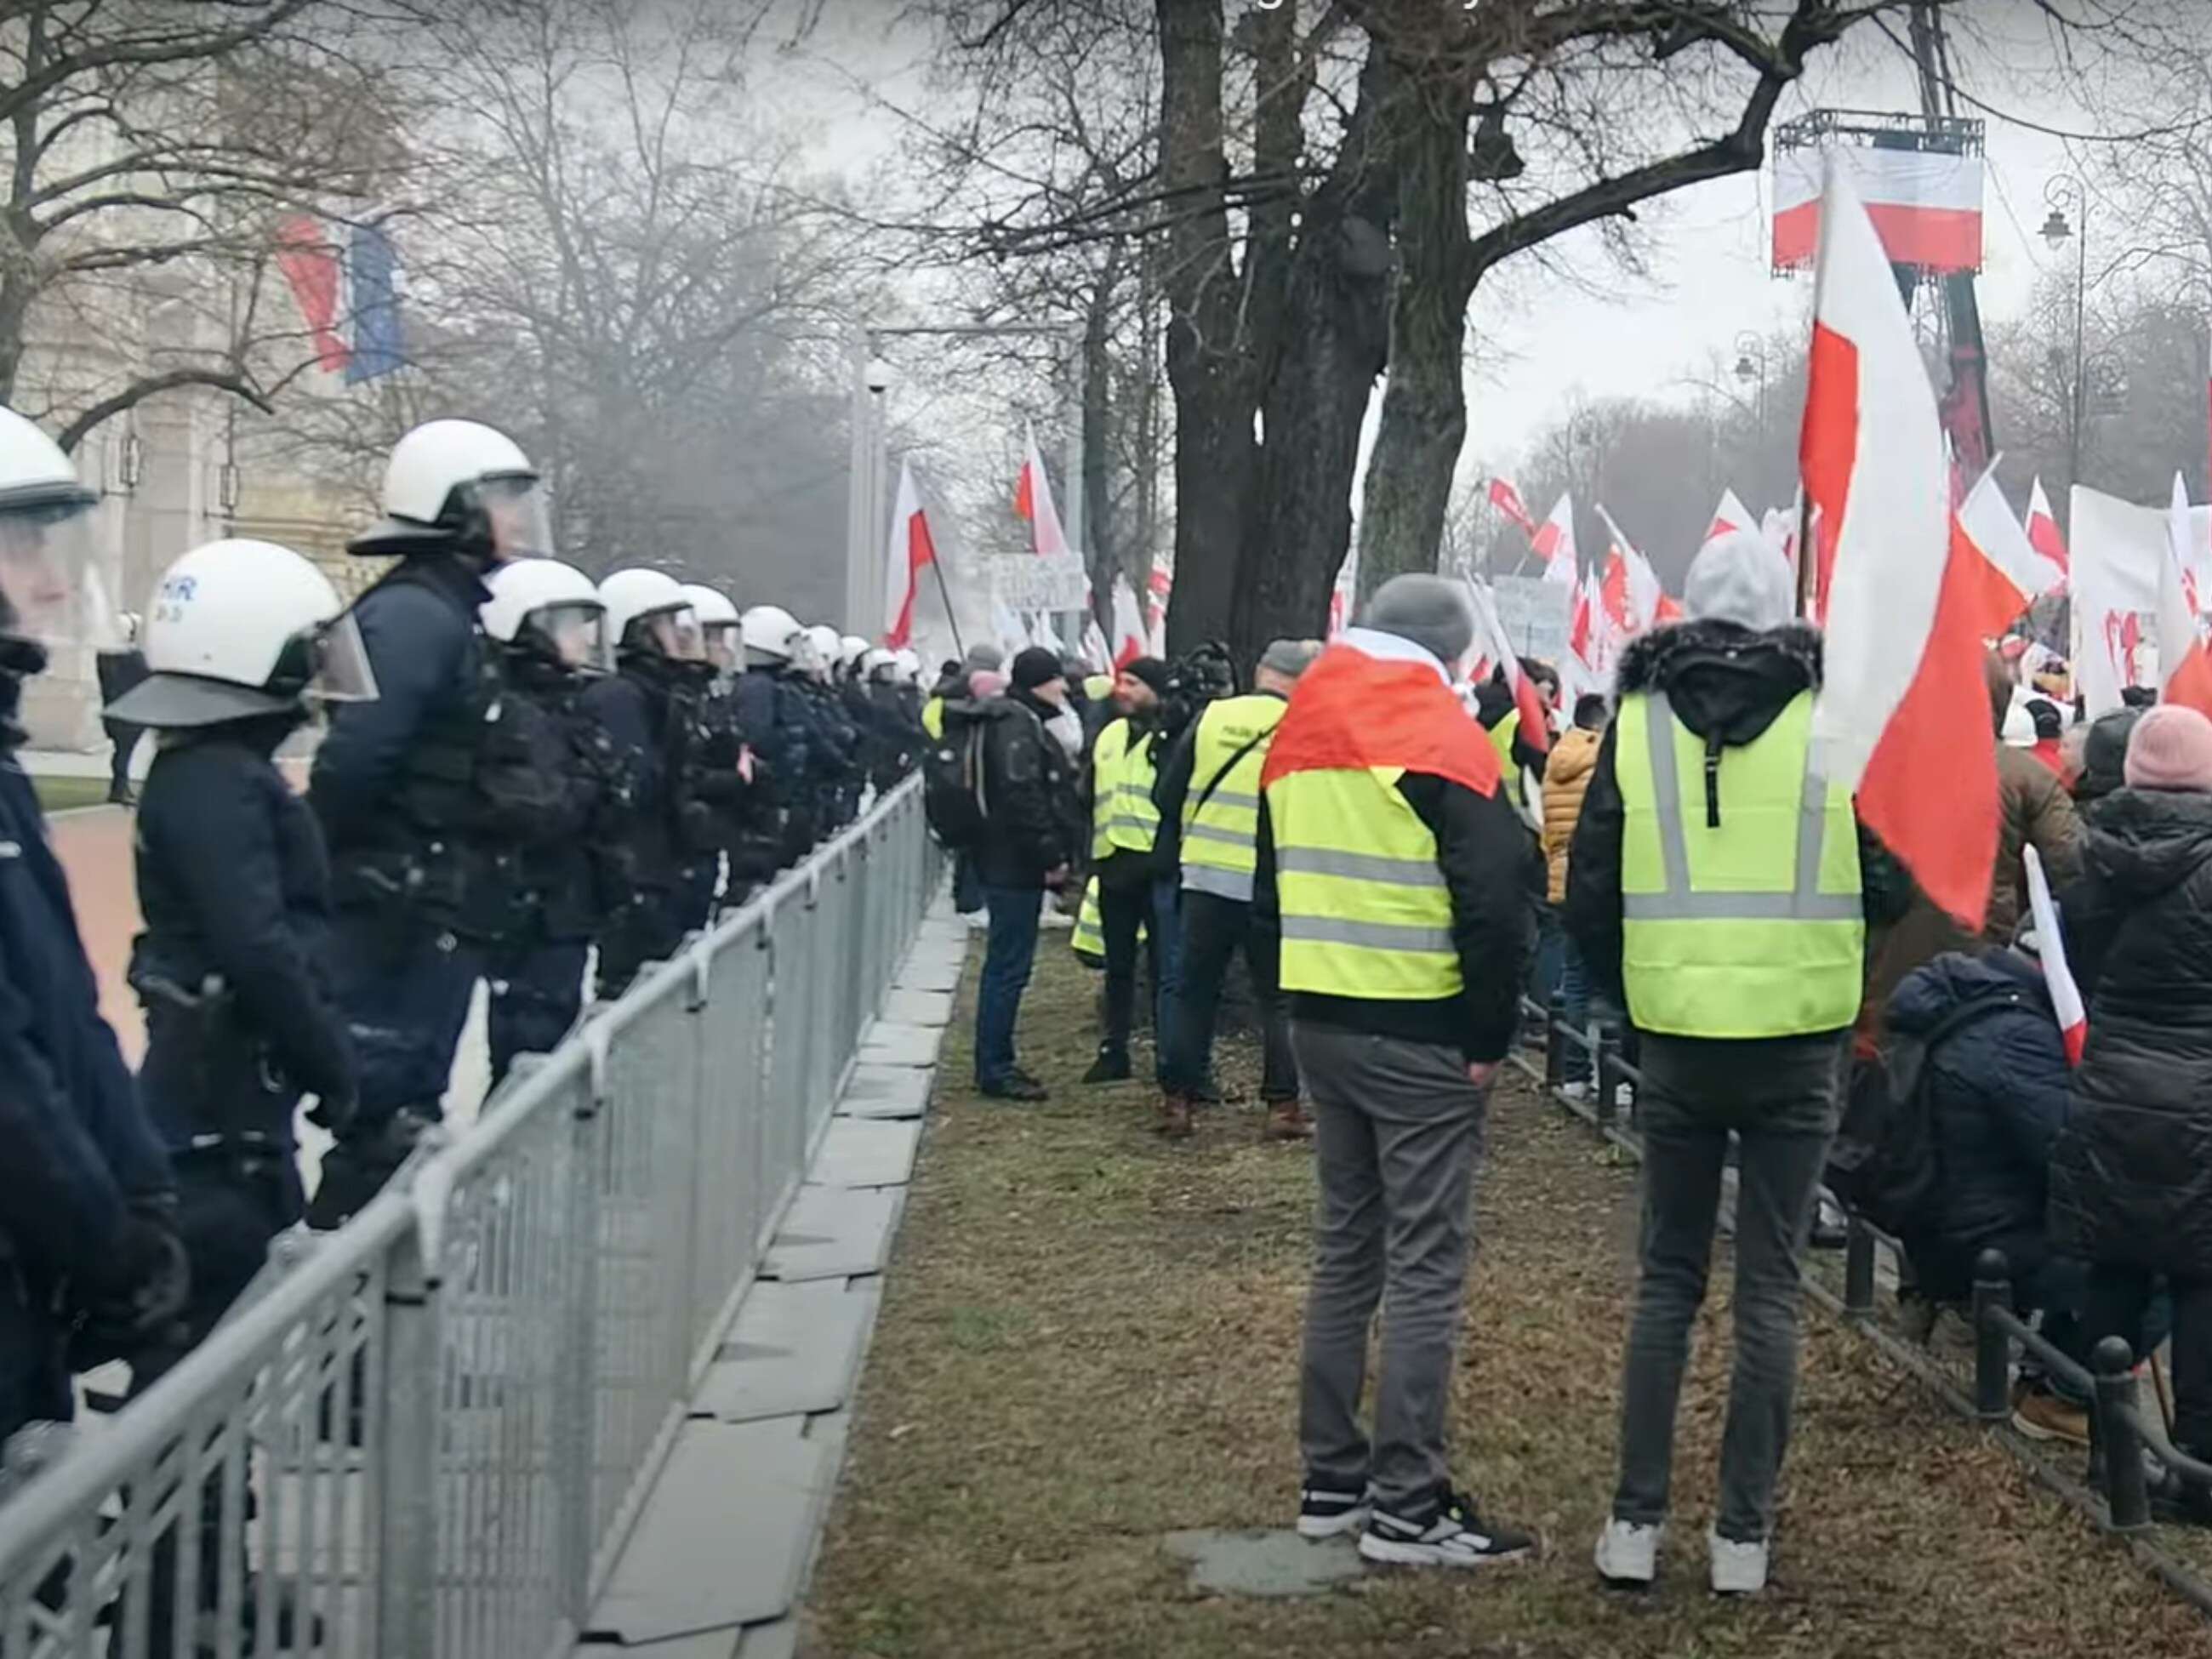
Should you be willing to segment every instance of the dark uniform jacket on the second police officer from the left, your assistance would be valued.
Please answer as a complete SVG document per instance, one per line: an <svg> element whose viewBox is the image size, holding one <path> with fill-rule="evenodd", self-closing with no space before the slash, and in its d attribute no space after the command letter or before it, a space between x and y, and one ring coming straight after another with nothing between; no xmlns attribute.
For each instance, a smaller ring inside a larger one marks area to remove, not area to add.
<svg viewBox="0 0 2212 1659"><path fill-rule="evenodd" d="M248 1130L290 1146L303 1091L354 1097L354 1044L330 978L330 858L270 761L288 730L279 717L168 734L146 774L146 931L131 984L146 1006L139 1093L170 1148ZM181 1009L177 993L201 998L210 978L223 984L217 1004Z"/></svg>

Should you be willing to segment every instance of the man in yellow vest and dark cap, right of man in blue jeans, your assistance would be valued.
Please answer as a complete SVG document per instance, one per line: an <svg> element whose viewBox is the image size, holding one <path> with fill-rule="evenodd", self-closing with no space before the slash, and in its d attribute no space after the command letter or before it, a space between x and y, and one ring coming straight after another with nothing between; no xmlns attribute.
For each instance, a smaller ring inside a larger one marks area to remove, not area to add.
<svg viewBox="0 0 2212 1659"><path fill-rule="evenodd" d="M1091 872L1106 933L1106 1029L1086 1084L1128 1077L1128 1033L1137 1018L1137 933L1152 969L1152 1037L1175 998L1175 827L1166 832L1152 790L1159 781L1157 717L1168 664L1135 657L1113 684L1121 714L1091 745Z"/></svg>

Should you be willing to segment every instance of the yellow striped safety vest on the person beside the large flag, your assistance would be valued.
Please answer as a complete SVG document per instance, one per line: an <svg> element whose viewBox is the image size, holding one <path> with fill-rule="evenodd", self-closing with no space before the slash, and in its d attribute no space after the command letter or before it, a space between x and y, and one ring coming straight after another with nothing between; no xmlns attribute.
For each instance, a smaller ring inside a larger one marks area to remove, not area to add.
<svg viewBox="0 0 2212 1659"><path fill-rule="evenodd" d="M1812 772L1812 703L1801 692L1708 759L1663 695L1621 701L1621 975L1639 1031L1801 1037L1858 1018L1858 821L1849 790Z"/></svg>

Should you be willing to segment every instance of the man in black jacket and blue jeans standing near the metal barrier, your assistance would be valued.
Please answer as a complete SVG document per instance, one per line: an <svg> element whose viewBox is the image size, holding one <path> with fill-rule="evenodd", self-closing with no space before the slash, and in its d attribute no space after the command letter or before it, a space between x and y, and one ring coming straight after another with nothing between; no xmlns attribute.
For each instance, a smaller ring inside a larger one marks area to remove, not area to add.
<svg viewBox="0 0 2212 1659"><path fill-rule="evenodd" d="M1066 692L1053 653L1031 646L1013 659L1004 697L945 708L947 741L982 723L975 878L991 931L975 991L975 1091L991 1099L1046 1099L1044 1084L1015 1062L1013 1026L1037 958L1044 894L1066 885L1075 849L1068 759L1044 730Z"/></svg>

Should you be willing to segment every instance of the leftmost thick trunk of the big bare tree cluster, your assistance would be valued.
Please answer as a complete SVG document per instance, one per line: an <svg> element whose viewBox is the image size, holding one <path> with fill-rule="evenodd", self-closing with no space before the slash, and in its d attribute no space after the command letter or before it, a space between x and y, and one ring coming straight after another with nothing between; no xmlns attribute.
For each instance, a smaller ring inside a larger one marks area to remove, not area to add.
<svg viewBox="0 0 2212 1659"><path fill-rule="evenodd" d="M1221 0L1157 0L1159 177L1181 192L1166 246L1175 389L1175 653L1228 633L1252 500L1252 365L1223 199Z"/></svg>

